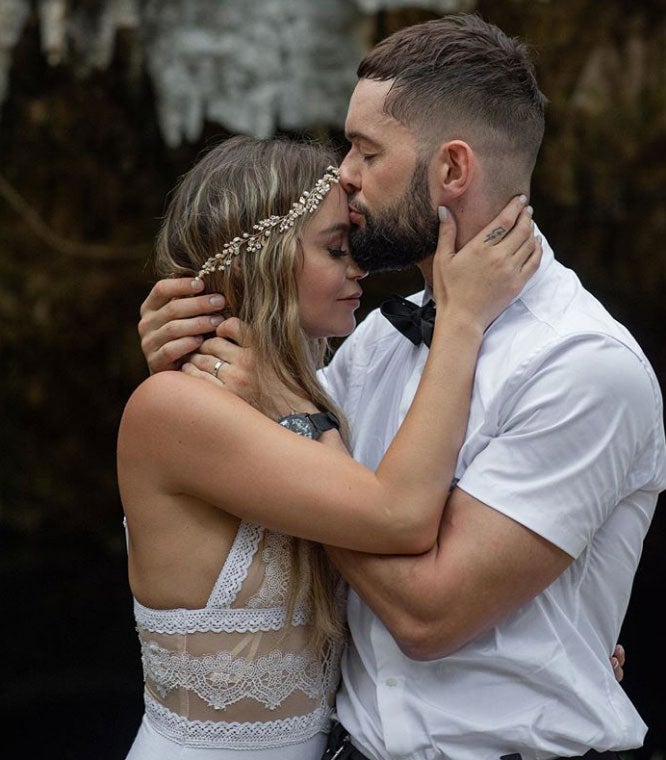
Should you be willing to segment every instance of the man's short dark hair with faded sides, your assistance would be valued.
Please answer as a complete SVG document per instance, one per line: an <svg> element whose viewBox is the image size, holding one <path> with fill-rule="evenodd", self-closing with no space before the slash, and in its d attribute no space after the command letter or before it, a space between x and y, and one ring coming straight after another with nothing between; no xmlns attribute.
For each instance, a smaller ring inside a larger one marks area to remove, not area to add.
<svg viewBox="0 0 666 760"><path fill-rule="evenodd" d="M414 130L424 150L460 139L500 174L531 175L547 100L527 47L493 24L452 14L406 27L376 45L357 75L395 80L384 110Z"/></svg>

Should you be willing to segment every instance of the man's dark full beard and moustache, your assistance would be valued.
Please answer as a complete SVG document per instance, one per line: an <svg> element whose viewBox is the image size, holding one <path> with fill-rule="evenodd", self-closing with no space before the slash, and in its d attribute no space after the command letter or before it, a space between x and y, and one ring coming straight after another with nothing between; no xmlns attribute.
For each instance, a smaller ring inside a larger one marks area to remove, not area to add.
<svg viewBox="0 0 666 760"><path fill-rule="evenodd" d="M407 192L389 208L371 215L350 203L365 216L363 227L353 227L349 235L351 254L366 272L407 269L435 252L439 221L428 189L427 164L414 169Z"/></svg>

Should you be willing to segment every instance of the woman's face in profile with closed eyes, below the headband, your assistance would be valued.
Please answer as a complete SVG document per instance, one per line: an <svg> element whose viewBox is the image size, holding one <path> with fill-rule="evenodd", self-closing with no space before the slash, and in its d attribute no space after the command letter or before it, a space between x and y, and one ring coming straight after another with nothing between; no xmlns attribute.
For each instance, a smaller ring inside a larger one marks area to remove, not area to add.
<svg viewBox="0 0 666 760"><path fill-rule="evenodd" d="M349 335L362 294L365 272L349 255L347 195L337 184L320 203L301 240L303 263L297 275L301 326L312 338Z"/></svg>

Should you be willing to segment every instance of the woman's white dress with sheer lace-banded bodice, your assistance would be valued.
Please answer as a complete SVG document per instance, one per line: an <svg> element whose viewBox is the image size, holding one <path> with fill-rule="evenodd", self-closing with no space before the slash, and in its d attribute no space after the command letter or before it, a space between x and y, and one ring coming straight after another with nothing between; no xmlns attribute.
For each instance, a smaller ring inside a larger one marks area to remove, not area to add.
<svg viewBox="0 0 666 760"><path fill-rule="evenodd" d="M302 600L286 622L291 550L289 537L242 522L203 609L134 600L145 714L127 760L319 760L341 644L308 648Z"/></svg>

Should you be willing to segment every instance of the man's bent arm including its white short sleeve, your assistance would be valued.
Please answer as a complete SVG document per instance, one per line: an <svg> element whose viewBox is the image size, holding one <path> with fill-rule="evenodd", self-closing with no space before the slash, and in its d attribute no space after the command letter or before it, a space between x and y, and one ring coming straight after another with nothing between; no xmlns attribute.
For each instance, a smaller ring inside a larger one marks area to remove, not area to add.
<svg viewBox="0 0 666 760"><path fill-rule="evenodd" d="M446 656L524 605L584 551L628 484L651 482L659 405L637 357L590 335L539 358L450 494L432 550L330 550L409 657Z"/></svg>

